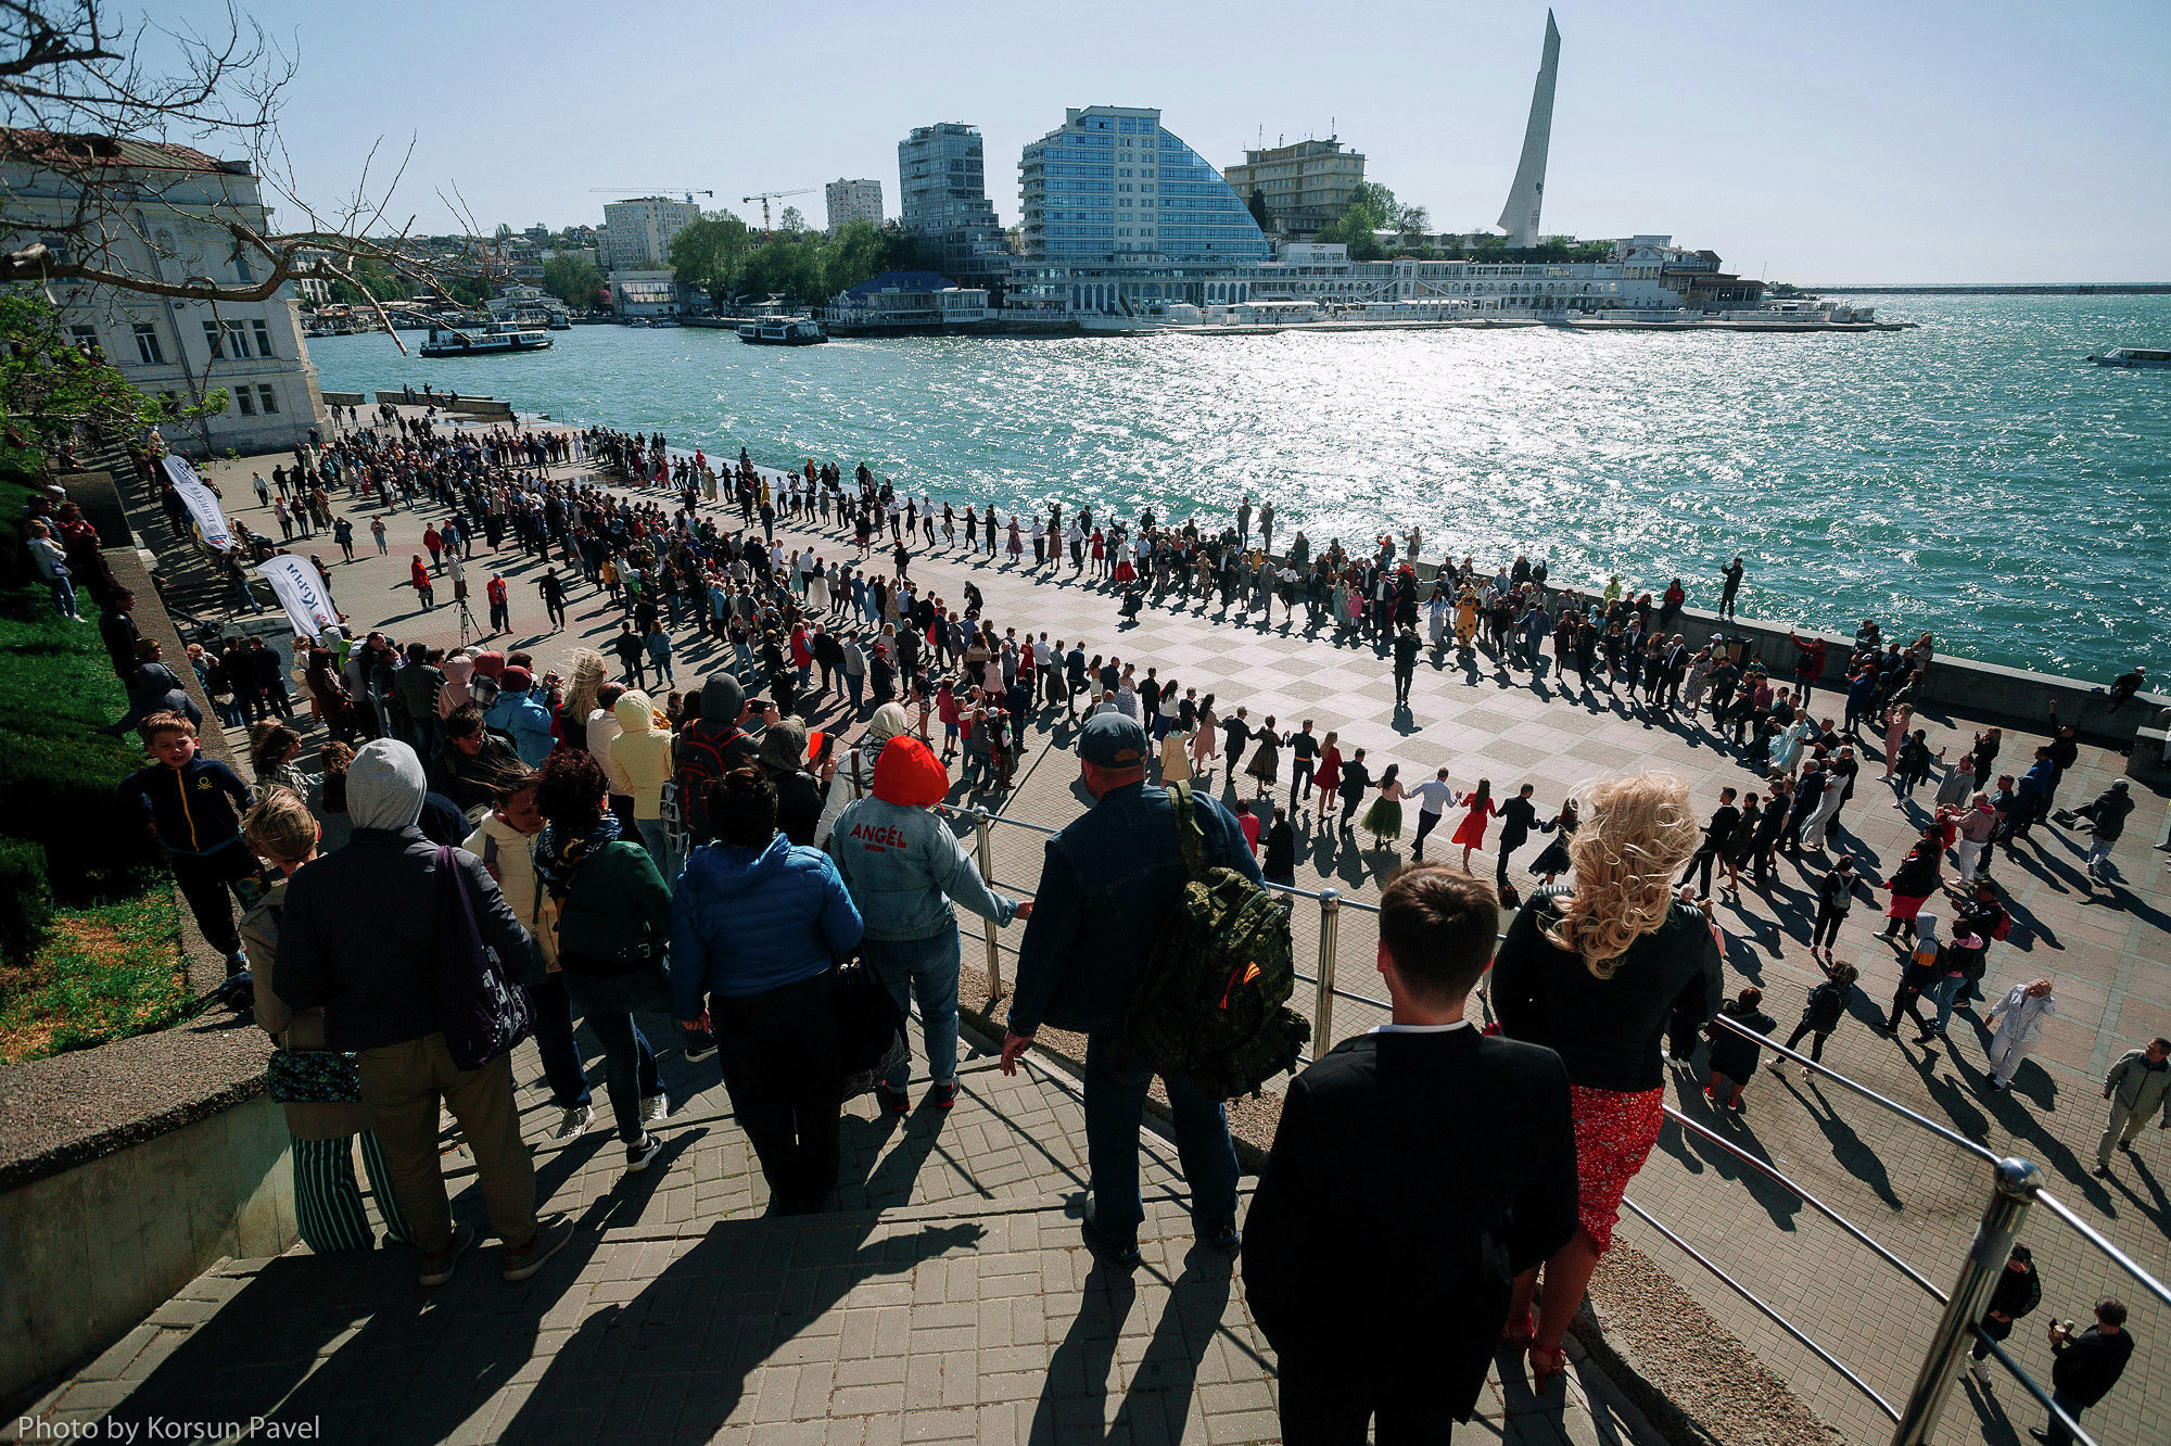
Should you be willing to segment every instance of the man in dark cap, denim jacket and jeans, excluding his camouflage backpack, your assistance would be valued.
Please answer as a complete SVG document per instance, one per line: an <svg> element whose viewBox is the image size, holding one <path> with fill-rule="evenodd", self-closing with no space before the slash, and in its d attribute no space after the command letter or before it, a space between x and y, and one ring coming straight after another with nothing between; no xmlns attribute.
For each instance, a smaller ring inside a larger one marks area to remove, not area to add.
<svg viewBox="0 0 2171 1446"><path fill-rule="evenodd" d="M1116 1064L1122 1018L1144 979L1153 944L1181 908L1183 853L1175 810L1164 788L1146 788L1146 732L1120 712L1088 719L1079 734L1079 773L1094 808L1049 840L1036 910L1018 947L1018 986L1010 1001L1003 1070L1016 1073L1040 1025L1086 1036L1086 1153L1092 1196L1086 1242L1118 1264L1138 1261L1138 1227L1146 1218L1138 1194L1138 1127L1153 1070ZM1205 834L1207 868L1237 868L1259 879L1229 810L1192 797ZM1237 1248L1235 1146L1220 1101L1172 1075L1168 1103L1177 1153L1192 1185L1192 1218L1201 1240Z"/></svg>

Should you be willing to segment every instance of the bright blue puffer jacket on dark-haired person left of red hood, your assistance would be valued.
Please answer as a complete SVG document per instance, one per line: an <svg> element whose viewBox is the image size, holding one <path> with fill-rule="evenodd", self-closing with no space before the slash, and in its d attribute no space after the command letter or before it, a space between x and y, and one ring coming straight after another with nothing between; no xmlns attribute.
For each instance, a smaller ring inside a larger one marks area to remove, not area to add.
<svg viewBox="0 0 2171 1446"><path fill-rule="evenodd" d="M680 1018L699 1018L708 994L764 994L810 979L858 949L862 931L821 849L799 849L784 834L760 849L695 849L671 899Z"/></svg>

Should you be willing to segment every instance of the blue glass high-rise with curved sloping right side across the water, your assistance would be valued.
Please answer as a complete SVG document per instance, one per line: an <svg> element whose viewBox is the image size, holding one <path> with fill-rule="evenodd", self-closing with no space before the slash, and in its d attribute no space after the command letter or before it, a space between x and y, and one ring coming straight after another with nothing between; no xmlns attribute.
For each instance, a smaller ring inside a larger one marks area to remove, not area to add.
<svg viewBox="0 0 2171 1446"><path fill-rule="evenodd" d="M1066 111L1018 161L1025 256L1012 304L1129 310L1140 300L1242 300L1272 245L1220 172L1161 113Z"/></svg>

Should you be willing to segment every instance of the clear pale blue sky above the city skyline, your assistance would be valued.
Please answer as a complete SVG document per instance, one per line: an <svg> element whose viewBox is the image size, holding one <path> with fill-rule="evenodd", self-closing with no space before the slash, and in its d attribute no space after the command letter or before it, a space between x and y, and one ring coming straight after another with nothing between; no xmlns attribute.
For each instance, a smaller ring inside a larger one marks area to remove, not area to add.
<svg viewBox="0 0 2171 1446"><path fill-rule="evenodd" d="M300 41L284 135L313 195L373 137L417 150L395 213L454 230L601 221L591 187L749 191L875 176L897 141L970 122L1018 217L1018 150L1066 104L1161 106L1220 167L1329 135L1439 228L1500 215L1546 7L732 4L265 0ZM1565 0L1546 219L1672 232L1798 282L2171 276L2171 2ZM204 0L161 20L217 24ZM821 224L821 193L795 198Z"/></svg>

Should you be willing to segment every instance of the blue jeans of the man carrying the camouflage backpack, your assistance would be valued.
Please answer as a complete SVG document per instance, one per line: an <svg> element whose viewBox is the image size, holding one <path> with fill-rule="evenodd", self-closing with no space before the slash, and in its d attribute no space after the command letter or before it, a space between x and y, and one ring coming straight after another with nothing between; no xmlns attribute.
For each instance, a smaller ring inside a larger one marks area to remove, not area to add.
<svg viewBox="0 0 2171 1446"><path fill-rule="evenodd" d="M1146 1114L1153 1070L1129 1062L1109 1064L1114 1031L1086 1036L1086 1162L1092 1172L1094 1227L1118 1240L1138 1233L1146 1203L1138 1194L1138 1129ZM1192 1218L1201 1225L1235 1222L1235 1144L1229 1114L1192 1088L1183 1075L1168 1075L1168 1105L1177 1127L1177 1157L1192 1185Z"/></svg>

